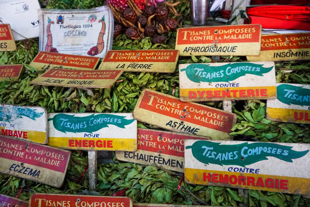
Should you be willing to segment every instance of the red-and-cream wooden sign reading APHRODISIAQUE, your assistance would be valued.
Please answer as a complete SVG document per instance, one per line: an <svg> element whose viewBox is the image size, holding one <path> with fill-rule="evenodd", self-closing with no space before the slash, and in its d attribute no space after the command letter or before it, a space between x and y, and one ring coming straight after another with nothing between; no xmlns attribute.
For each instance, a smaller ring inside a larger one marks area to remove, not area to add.
<svg viewBox="0 0 310 207"><path fill-rule="evenodd" d="M175 49L180 56L259 55L261 25L179 28Z"/></svg>

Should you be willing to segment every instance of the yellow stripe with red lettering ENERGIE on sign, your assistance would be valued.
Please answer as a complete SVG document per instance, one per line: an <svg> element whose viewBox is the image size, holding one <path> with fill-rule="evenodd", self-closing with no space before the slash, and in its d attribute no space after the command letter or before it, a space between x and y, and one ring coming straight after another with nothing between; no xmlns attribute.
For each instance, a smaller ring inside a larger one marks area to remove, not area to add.
<svg viewBox="0 0 310 207"><path fill-rule="evenodd" d="M49 137L47 144L69 150L135 151L137 139Z"/></svg>

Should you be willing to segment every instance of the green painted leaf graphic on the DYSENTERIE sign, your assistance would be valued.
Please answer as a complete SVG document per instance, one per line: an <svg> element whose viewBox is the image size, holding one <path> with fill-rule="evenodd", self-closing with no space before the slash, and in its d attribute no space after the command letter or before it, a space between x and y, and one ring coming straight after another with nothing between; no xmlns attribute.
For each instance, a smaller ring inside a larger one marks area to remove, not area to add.
<svg viewBox="0 0 310 207"><path fill-rule="evenodd" d="M233 81L246 74L254 74L263 76L272 70L273 66L269 68L263 67L261 64L250 62L228 63L226 65L210 66L209 64L190 64L180 71L185 71L188 79L195 83L201 82L229 82Z"/></svg>

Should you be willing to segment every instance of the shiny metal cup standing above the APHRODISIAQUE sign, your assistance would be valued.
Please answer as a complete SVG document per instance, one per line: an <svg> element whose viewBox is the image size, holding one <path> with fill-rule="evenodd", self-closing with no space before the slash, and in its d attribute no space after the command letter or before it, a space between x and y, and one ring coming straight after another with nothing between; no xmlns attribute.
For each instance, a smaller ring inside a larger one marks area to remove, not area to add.
<svg viewBox="0 0 310 207"><path fill-rule="evenodd" d="M190 0L189 6L191 11L192 25L207 25L210 10L210 0Z"/></svg>

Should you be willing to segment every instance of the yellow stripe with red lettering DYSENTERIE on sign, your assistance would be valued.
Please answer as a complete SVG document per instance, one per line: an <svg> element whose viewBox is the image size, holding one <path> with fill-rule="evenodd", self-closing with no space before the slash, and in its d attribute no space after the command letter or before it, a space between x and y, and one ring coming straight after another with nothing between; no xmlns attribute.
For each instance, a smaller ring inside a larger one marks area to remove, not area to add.
<svg viewBox="0 0 310 207"><path fill-rule="evenodd" d="M245 99L268 99L276 97L276 86L259 87L228 87L228 88L180 88L180 97L189 100L212 99L212 100L234 100L236 98Z"/></svg>

